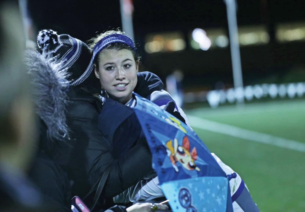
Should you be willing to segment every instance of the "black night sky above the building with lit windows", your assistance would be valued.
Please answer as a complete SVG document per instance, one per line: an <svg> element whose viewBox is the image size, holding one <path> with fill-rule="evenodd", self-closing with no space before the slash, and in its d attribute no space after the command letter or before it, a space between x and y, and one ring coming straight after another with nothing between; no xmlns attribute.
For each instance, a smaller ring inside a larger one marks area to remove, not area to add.
<svg viewBox="0 0 305 212"><path fill-rule="evenodd" d="M239 25L261 24L266 22L266 19L274 23L305 20L303 0L237 2ZM134 0L133 3L136 38L137 33L141 32L227 26L223 0ZM94 36L97 31L121 27L119 0L56 0L52 3L32 0L29 1L29 7L38 28L58 28L59 31L74 34L75 37L84 40ZM267 14L264 14L264 10Z"/></svg>

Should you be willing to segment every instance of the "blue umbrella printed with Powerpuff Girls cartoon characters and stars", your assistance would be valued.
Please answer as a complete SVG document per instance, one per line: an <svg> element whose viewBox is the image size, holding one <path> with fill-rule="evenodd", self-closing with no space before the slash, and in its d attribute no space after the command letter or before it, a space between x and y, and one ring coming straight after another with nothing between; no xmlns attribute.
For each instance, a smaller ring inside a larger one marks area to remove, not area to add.
<svg viewBox="0 0 305 212"><path fill-rule="evenodd" d="M135 98L152 168L172 210L233 211L227 175L196 133L156 104Z"/></svg>

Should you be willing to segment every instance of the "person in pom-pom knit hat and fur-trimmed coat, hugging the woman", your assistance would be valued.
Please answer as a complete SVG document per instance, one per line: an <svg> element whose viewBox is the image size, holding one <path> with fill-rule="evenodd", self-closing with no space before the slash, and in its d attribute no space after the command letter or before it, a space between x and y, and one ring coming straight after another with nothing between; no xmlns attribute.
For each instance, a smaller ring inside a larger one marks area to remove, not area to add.
<svg viewBox="0 0 305 212"><path fill-rule="evenodd" d="M106 205L111 206L113 196L153 172L149 148L145 141L138 142L124 157L114 158L112 143L98 128L98 116L101 110L107 109L103 108L99 98L92 95L101 87L94 76L87 45L70 35L58 35L52 30L40 31L37 40L40 53L28 52L27 64L37 87L36 110L43 126L40 148L67 172L68 178L73 181L72 196L83 198L89 190L94 191L108 168L111 177L106 180L102 199L110 198ZM152 89L163 87L160 79L154 78L153 74L138 76L139 83L143 84L147 79L153 84ZM146 87L151 88L150 85ZM128 123L135 122L128 116L133 113L129 107L114 105L112 109L115 111L111 114L112 118L103 122L112 129L113 135L119 127L115 120L120 120L120 123L127 120ZM130 129L120 130L122 133L125 131ZM138 171L131 173L135 169ZM86 204L92 206L94 193L84 199ZM102 199L97 206L106 207Z"/></svg>

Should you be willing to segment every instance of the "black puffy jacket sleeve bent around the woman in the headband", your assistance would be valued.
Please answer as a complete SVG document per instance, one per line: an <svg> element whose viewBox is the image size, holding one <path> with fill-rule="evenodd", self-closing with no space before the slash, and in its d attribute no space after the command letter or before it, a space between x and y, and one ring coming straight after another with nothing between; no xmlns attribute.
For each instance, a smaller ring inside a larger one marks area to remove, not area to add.
<svg viewBox="0 0 305 212"><path fill-rule="evenodd" d="M68 113L73 132L69 169L76 183L74 187L81 189L83 195L109 166L110 173L104 188L106 197L123 192L153 171L151 154L145 142L138 143L123 157L113 159L111 144L98 128L99 111L94 105L78 101L70 105Z"/></svg>

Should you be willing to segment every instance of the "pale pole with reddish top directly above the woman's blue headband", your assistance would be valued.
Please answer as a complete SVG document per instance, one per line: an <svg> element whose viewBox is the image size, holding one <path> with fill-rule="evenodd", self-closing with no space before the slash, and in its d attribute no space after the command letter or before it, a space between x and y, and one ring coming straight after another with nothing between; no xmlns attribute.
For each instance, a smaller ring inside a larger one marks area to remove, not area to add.
<svg viewBox="0 0 305 212"><path fill-rule="evenodd" d="M120 0L122 29L134 41L132 11L133 5L131 0Z"/></svg>

